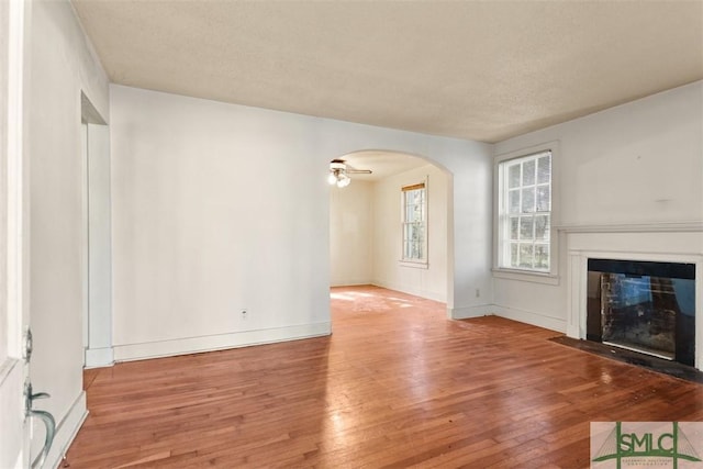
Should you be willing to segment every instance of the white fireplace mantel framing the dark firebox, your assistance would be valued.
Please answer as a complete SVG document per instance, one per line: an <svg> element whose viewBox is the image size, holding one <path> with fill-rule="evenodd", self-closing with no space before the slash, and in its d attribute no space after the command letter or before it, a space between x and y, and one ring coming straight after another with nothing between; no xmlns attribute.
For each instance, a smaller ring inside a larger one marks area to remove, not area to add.
<svg viewBox="0 0 703 469"><path fill-rule="evenodd" d="M695 264L695 368L703 369L703 233L567 232L567 335L585 339L588 259Z"/></svg>

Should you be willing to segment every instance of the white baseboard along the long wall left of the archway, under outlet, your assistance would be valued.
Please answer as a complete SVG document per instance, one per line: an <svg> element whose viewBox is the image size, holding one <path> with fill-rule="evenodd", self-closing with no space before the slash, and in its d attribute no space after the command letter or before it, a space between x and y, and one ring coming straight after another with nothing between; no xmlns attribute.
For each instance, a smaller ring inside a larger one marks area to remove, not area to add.
<svg viewBox="0 0 703 469"><path fill-rule="evenodd" d="M199 351L221 350L250 345L271 344L320 337L332 333L331 323L304 324L288 327L274 327L257 331L244 331L202 337L183 337L170 340L148 342L144 344L115 345L114 360L130 361L146 358L170 357Z"/></svg>

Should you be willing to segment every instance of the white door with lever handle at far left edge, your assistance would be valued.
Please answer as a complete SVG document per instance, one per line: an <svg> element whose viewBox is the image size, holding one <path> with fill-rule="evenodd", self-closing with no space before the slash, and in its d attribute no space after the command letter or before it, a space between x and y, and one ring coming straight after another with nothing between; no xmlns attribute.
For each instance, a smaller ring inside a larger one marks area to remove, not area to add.
<svg viewBox="0 0 703 469"><path fill-rule="evenodd" d="M27 233L25 82L31 1L0 1L0 468L26 468L30 461L27 377L31 339L27 333ZM29 388L31 389L31 388ZM29 393L30 397L32 392ZM32 418L45 423L48 414ZM47 438L48 439L48 438ZM34 467L43 462L42 455Z"/></svg>

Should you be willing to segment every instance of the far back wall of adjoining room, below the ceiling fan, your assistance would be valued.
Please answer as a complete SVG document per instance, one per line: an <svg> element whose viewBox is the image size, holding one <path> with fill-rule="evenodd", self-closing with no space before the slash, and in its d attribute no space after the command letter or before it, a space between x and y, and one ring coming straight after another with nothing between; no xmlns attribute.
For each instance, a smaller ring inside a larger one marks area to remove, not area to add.
<svg viewBox="0 0 703 469"><path fill-rule="evenodd" d="M372 276L373 182L330 187L330 283L368 284Z"/></svg>

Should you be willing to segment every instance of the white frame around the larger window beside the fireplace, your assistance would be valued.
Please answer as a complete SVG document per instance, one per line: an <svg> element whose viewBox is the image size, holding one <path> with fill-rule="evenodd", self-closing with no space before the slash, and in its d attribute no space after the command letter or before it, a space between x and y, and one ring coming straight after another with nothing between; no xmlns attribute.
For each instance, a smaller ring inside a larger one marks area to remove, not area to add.
<svg viewBox="0 0 703 469"><path fill-rule="evenodd" d="M505 242L510 225L507 224L507 200L505 189L505 177L503 168L505 163L523 158L529 158L543 154L551 153L550 171L550 212L549 212L549 267L546 270L529 268L517 268L506 266L504 263ZM558 246L558 220L559 220L559 143L548 142L527 148L501 154L494 157L493 167L493 276L515 280L535 281L540 283L558 284L559 246Z"/></svg>

